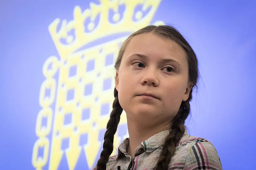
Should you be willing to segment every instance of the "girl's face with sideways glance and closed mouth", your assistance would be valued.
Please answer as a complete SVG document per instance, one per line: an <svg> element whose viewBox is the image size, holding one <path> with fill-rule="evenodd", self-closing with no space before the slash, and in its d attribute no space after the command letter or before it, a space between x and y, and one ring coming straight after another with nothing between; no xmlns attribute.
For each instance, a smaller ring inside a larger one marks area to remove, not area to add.
<svg viewBox="0 0 256 170"><path fill-rule="evenodd" d="M169 123L192 87L186 53L152 32L134 36L116 72L115 87L128 121Z"/></svg>

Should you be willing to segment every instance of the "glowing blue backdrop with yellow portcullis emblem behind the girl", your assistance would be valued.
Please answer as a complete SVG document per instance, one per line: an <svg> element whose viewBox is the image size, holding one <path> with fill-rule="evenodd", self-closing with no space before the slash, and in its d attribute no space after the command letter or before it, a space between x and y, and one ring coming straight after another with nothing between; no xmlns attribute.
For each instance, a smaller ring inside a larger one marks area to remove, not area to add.
<svg viewBox="0 0 256 170"><path fill-rule="evenodd" d="M113 22L133 19L112 32L98 15L101 29L90 33L94 27L85 20L79 32L79 22L70 21L82 21L83 11L92 9L85 19L97 10L106 14L90 2L100 5L96 0L0 2L0 169L94 166L111 111L117 49L136 28L160 21L176 27L199 59L200 84L186 121L189 134L213 143L223 169L253 168L256 1L148 1L151 7L145 10L138 1L131 3L135 8L128 3L118 11L111 8ZM140 17L147 18L135 24ZM62 27L65 19L70 24ZM126 27L129 23L134 26ZM61 28L67 30L60 33ZM122 120L116 146L127 136Z"/></svg>

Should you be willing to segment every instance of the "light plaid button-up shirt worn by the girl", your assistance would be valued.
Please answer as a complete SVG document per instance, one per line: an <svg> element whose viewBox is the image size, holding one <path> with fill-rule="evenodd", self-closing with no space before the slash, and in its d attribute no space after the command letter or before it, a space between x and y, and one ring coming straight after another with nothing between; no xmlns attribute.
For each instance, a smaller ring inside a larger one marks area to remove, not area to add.
<svg viewBox="0 0 256 170"><path fill-rule="evenodd" d="M118 166L121 167L121 170L153 169L162 151L164 139L168 134L169 130L165 130L141 142L141 146L136 148L133 159L127 154L129 138L124 139L118 147L118 154L109 158L107 170L117 170ZM190 136L185 130L181 140L177 143L176 152L168 169L222 170L222 164L211 142L204 138Z"/></svg>

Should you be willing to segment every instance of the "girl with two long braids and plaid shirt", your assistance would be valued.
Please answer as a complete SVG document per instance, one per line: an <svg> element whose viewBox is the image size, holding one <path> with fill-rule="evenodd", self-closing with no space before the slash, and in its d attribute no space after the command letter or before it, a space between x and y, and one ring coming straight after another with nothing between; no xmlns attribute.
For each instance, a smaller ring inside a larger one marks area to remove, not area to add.
<svg viewBox="0 0 256 170"><path fill-rule="evenodd" d="M134 32L124 41L115 69L113 110L94 169L222 169L212 143L186 132L198 63L176 29L147 26ZM129 138L110 157L123 109Z"/></svg>

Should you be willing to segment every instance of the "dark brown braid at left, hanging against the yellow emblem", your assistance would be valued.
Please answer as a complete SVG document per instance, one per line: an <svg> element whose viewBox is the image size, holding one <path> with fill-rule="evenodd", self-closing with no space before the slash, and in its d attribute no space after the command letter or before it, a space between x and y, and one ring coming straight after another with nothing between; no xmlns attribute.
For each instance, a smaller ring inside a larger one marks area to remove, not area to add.
<svg viewBox="0 0 256 170"><path fill-rule="evenodd" d="M114 135L117 130L118 123L120 121L123 108L119 104L118 91L114 90L115 100L113 102L113 110L110 113L110 119L107 123L107 129L104 135L103 150L101 151L101 157L97 162L97 170L106 170L106 164L109 160L109 156L113 152Z"/></svg>

